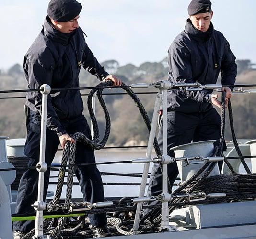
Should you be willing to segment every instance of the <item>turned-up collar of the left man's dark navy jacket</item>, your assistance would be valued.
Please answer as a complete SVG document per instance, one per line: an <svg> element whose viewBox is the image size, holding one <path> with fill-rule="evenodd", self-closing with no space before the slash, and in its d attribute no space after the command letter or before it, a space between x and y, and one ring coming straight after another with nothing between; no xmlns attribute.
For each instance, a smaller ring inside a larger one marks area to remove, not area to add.
<svg viewBox="0 0 256 239"><path fill-rule="evenodd" d="M61 33L52 24L50 18L47 16L44 21L44 33L54 42L61 43L62 45L67 45L70 42L70 38L74 35L76 30L72 33Z"/></svg>

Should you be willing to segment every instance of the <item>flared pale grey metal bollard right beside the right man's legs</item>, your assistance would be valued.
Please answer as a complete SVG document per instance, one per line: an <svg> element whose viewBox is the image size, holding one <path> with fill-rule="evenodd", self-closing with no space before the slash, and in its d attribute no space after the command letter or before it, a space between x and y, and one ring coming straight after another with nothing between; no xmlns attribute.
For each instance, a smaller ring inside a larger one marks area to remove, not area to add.
<svg viewBox="0 0 256 239"><path fill-rule="evenodd" d="M213 143L215 140L209 140L209 141L199 141L199 142L193 142L193 143L188 143L188 144L183 144L179 146L175 146L171 148L175 152L175 157L176 158L181 158L181 157L196 157L196 156L201 156L201 157L209 157L211 156L213 150L214 150L214 145ZM196 163L198 160L189 160L191 163ZM185 161L177 161L177 166L180 174L180 179L181 182L184 182L191 178L194 174L198 172L198 170L205 164L206 162L202 163L197 163L197 164L188 164L186 165ZM199 176L202 176L200 174ZM219 167L216 164L213 170L210 172L209 176L214 176L214 175L220 175Z"/></svg>

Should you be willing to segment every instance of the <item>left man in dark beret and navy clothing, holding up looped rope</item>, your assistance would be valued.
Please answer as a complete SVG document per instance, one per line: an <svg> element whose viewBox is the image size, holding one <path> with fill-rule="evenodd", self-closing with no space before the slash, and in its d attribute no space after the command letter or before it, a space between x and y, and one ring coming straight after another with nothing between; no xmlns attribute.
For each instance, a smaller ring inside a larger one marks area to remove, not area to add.
<svg viewBox="0 0 256 239"><path fill-rule="evenodd" d="M70 134L81 132L92 139L87 120L83 116L83 101L78 89L81 66L99 80L111 80L114 86L122 81L109 75L94 57L84 39L84 33L78 25L82 6L76 0L51 0L43 29L30 46L24 57L24 73L29 89L39 89L48 84L57 90L48 95L47 132L45 162L51 165L59 144L62 148L67 141L74 143ZM29 166L39 162L40 125L42 94L37 91L26 93L27 140L24 153L29 157ZM103 202L103 183L95 163L94 151L81 142L76 143L75 163L91 163L90 166L78 166L78 178L84 201ZM49 169L44 174L44 200L49 184ZM20 180L17 194L16 213L33 214L31 206L37 201L38 172L28 169ZM111 236L106 226L106 214L89 214L93 226L93 237ZM35 228L35 221L13 222L14 239L22 238Z"/></svg>

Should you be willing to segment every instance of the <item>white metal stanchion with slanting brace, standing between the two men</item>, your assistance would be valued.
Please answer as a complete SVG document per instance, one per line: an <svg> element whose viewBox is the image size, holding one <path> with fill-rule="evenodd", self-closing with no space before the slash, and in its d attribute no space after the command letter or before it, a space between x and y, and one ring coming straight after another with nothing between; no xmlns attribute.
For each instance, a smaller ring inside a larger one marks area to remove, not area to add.
<svg viewBox="0 0 256 239"><path fill-rule="evenodd" d="M154 114L152 119L152 126L150 131L150 137L148 142L147 148L147 156L146 159L143 159L141 162L146 162L144 166L144 171L142 175L142 182L140 185L140 195L139 198L144 196L145 193L145 185L147 182L147 175L149 171L149 162L151 162L151 151L153 148L154 136L156 133L156 126L157 126L157 115L156 113L160 110L160 104L158 104L158 100L161 101L163 99L163 115L162 115L162 130L163 130L163 148L162 148L162 159L161 163L163 164L163 188L161 196L162 202L162 222L161 222L161 230L167 231L175 231L176 228L174 226L169 225L169 209L168 209L168 202L171 200L171 195L168 193L168 173L167 173L167 164L171 163L173 159L168 156L167 152L167 90L172 89L173 87L184 87L186 91L197 91L202 89L216 89L221 88L222 85L217 84L208 84L208 85L201 85L198 82L194 83L176 83L172 84L168 80L159 81L153 84L147 83L139 83L139 84L132 84L130 85L132 88L148 88L148 87L156 87L159 89L159 93L157 95L157 99L155 102ZM189 88L190 87L190 88ZM139 161L138 161L139 162ZM147 198L147 200L151 200L151 198ZM146 201L147 201L146 200ZM152 199L154 200L154 199ZM139 202L137 205L137 210L135 214L134 226L133 226L133 233L136 234L138 232L139 223L140 223L140 214L142 209L142 203Z"/></svg>

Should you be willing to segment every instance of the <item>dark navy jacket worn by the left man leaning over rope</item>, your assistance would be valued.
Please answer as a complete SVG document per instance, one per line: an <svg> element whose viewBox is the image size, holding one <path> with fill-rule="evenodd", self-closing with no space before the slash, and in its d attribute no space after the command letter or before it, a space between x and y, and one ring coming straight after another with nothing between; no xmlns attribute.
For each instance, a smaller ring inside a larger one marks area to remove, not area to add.
<svg viewBox="0 0 256 239"><path fill-rule="evenodd" d="M86 44L81 28L61 33L47 16L42 31L24 57L28 89L39 89L42 84L52 89L79 87L81 66L100 80L108 75ZM41 115L42 94L27 92L26 98L26 105ZM60 136L66 133L61 122L80 116L82 112L79 90L51 91L47 102L47 127Z"/></svg>

